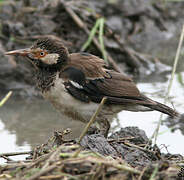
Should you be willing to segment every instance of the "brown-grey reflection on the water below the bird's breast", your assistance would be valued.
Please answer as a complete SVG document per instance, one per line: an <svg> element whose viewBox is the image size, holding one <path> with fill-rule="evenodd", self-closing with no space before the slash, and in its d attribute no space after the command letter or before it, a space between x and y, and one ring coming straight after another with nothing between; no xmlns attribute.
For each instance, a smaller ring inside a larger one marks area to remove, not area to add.
<svg viewBox="0 0 184 180"><path fill-rule="evenodd" d="M16 134L16 144L25 142L32 147L44 143L55 130L72 129L70 138L79 136L83 124L61 116L49 102L39 100L14 100L11 98L1 109L4 130ZM0 132L1 133L1 132Z"/></svg>

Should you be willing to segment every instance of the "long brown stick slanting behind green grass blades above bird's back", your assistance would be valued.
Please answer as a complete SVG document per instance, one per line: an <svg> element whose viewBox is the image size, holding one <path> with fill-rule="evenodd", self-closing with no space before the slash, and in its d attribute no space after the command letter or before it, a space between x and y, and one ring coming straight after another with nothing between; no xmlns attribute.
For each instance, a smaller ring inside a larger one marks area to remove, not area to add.
<svg viewBox="0 0 184 180"><path fill-rule="evenodd" d="M74 20L74 22L81 28L83 29L86 34L89 36L90 35L90 31L88 30L88 28L86 27L86 25L83 23L83 21L79 18L79 16L76 15L76 13L70 8L68 7L64 1L62 1L64 8L66 10L66 12L72 17L72 19ZM95 46L98 48L98 50L101 51L101 46L98 42L98 40L93 37L93 43L95 44ZM117 72L122 72L121 69L118 67L118 65L115 63L115 61L113 60L113 58L106 52L107 58L109 63L113 66L114 70L116 70Z"/></svg>

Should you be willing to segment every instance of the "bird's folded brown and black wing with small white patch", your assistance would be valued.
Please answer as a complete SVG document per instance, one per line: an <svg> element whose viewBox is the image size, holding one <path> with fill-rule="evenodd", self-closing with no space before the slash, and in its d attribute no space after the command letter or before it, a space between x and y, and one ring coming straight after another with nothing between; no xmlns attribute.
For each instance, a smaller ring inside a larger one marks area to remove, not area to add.
<svg viewBox="0 0 184 180"><path fill-rule="evenodd" d="M104 96L109 104L141 104L143 100L130 78L107 70L102 59L90 54L71 54L60 77L64 79L68 92L84 102L99 103Z"/></svg>

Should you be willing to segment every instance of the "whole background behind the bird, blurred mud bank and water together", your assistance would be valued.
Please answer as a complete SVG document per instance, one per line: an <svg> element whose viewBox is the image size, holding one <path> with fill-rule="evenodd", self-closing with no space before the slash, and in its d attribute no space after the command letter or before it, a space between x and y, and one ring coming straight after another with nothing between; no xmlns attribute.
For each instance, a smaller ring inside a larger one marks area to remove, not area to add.
<svg viewBox="0 0 184 180"><path fill-rule="evenodd" d="M85 25L79 26L72 10ZM91 29L104 20L105 50L118 67L132 77L140 91L164 102L184 19L184 3L147 0L1 0L0 1L0 99L13 91L0 107L0 153L24 151L45 143L55 130L72 129L78 137L84 124L60 115L43 100L35 86L34 70L21 57L5 56L8 50L26 48L34 40L50 36L61 40L70 52L85 50L103 58L94 43L83 45ZM87 29L87 30L86 30ZM99 31L96 31L98 40ZM168 105L184 112L183 47ZM110 68L113 65L110 64ZM112 131L138 126L150 137L160 113L121 112ZM165 118L165 116L164 116ZM171 132L171 130L175 130ZM162 124L158 145L163 151L182 153L183 122ZM165 148L167 147L167 148Z"/></svg>

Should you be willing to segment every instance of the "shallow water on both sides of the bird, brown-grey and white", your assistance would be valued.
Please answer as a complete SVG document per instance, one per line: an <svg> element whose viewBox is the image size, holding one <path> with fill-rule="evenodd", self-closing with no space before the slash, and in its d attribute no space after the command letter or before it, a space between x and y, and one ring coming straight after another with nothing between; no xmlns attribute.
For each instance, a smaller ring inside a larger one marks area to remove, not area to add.
<svg viewBox="0 0 184 180"><path fill-rule="evenodd" d="M184 73L182 73L184 77ZM138 83L138 88L150 98L163 102L163 95L167 89L167 82ZM163 97L161 98L162 95ZM175 77L170 95L174 108L184 112L184 87ZM168 104L172 107L171 104ZM160 117L159 112L128 112L118 114L118 120L112 122L112 129L120 127L138 126L150 137ZM166 116L164 116L166 117ZM0 153L27 151L40 143L45 143L55 130L72 129L70 137L78 137L84 125L61 116L45 100L20 100L10 98L0 109ZM157 144L163 152L180 153L184 155L182 142L184 136L179 130L174 133L164 125L160 128ZM69 138L70 138L69 137ZM163 145L164 144L164 145ZM167 147L167 148L166 148ZM20 158L20 157L16 157ZM22 158L22 157L21 157ZM3 162L0 159L0 163Z"/></svg>

